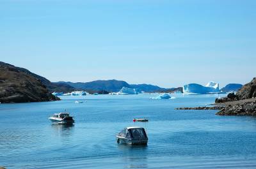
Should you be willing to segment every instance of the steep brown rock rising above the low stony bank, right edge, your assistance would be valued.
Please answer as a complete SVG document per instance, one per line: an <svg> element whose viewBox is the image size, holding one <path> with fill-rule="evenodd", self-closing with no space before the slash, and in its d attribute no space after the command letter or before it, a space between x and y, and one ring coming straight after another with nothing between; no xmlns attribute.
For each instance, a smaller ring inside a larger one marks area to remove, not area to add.
<svg viewBox="0 0 256 169"><path fill-rule="evenodd" d="M239 99L256 98L256 77L250 83L243 85L236 95Z"/></svg>

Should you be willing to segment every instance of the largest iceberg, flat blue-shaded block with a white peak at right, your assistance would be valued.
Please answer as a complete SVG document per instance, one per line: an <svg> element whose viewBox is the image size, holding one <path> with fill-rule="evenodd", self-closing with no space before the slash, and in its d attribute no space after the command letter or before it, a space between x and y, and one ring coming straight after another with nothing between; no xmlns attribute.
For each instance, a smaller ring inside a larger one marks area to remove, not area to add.
<svg viewBox="0 0 256 169"><path fill-rule="evenodd" d="M218 93L218 92L221 92L220 85L216 82L209 82L205 86L200 84L183 85L184 94L209 94L209 93Z"/></svg>

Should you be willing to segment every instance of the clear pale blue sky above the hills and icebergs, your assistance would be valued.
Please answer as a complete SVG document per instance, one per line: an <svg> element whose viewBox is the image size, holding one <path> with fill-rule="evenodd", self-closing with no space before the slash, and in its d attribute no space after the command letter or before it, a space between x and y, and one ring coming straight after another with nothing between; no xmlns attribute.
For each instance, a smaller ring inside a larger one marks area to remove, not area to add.
<svg viewBox="0 0 256 169"><path fill-rule="evenodd" d="M0 1L0 61L56 82L256 77L256 1Z"/></svg>

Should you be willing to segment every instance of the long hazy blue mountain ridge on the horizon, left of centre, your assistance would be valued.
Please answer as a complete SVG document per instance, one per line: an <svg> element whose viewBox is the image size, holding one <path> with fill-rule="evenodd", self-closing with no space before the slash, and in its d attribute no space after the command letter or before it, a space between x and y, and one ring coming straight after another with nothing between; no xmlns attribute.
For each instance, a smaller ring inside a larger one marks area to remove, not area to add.
<svg viewBox="0 0 256 169"><path fill-rule="evenodd" d="M96 80L93 82L56 82L56 84L67 84L76 89L81 89L85 91L108 91L108 92L118 92L122 87L128 87L133 89L140 89L145 92L163 91L166 90L157 85L150 84L128 84L127 82L120 80Z"/></svg>

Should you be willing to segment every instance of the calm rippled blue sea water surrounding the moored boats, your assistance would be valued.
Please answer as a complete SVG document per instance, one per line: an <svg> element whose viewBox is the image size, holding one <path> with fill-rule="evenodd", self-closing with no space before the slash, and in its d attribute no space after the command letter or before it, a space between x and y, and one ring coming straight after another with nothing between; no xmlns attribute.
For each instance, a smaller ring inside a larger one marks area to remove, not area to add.
<svg viewBox="0 0 256 169"><path fill-rule="evenodd" d="M62 101L0 105L0 166L6 168L256 168L256 119L215 115L218 96L62 97ZM84 103L74 103L77 99ZM48 117L67 109L74 126ZM132 122L146 117L147 123ZM127 126L147 129L148 145L118 145Z"/></svg>

